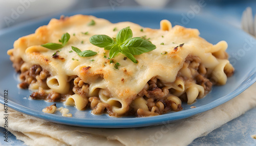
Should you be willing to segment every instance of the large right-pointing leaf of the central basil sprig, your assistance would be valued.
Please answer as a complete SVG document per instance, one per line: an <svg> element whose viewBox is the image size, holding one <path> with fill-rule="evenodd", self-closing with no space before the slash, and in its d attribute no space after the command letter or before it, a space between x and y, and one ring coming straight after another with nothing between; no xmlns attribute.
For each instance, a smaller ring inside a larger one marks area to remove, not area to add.
<svg viewBox="0 0 256 146"><path fill-rule="evenodd" d="M144 40L140 37L130 39L125 43L132 55L140 55L142 53L150 52L155 50L156 46L151 42Z"/></svg>

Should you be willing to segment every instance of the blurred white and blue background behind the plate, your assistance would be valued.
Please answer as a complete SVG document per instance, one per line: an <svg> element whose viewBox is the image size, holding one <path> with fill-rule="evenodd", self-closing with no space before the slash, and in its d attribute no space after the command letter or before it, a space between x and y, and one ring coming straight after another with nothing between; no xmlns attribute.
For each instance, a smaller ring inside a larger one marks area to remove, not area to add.
<svg viewBox="0 0 256 146"><path fill-rule="evenodd" d="M0 29L8 28L31 19L40 19L63 12L83 9L167 9L181 15L207 15L240 28L242 12L246 7L256 11L254 0L1 0ZM190 13L191 12L191 13Z"/></svg>

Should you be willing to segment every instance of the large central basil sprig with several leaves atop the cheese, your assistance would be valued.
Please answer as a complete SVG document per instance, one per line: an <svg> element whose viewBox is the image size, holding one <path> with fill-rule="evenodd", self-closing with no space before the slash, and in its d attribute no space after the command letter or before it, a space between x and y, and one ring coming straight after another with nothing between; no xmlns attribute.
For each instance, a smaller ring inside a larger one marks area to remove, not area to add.
<svg viewBox="0 0 256 146"><path fill-rule="evenodd" d="M137 63L134 55L153 51L156 46L140 37L132 37L133 32L130 27L127 27L117 33L116 40L107 35L94 35L90 38L90 42L98 47L103 47L104 50L110 50L110 59L118 53L122 53L134 63Z"/></svg>

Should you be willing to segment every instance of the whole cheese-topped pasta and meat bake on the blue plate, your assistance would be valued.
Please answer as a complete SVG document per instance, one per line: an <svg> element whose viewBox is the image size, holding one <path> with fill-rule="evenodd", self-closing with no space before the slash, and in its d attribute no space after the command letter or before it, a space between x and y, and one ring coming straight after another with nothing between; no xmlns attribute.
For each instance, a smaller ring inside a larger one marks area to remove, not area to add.
<svg viewBox="0 0 256 146"><path fill-rule="evenodd" d="M134 55L136 63L121 53L111 58L109 50L89 41L93 35L116 39L126 27L134 37L156 46ZM42 46L60 43L65 33L70 39L61 48ZM79 56L72 46L96 55ZM74 15L52 19L34 34L19 38L8 55L21 73L19 87L36 90L32 99L61 101L78 110L91 108L94 114L151 116L182 110L182 102L193 104L212 85L224 85L234 71L226 49L225 41L213 45L199 37L197 29L172 27L167 20L160 22L160 29L150 29Z"/></svg>

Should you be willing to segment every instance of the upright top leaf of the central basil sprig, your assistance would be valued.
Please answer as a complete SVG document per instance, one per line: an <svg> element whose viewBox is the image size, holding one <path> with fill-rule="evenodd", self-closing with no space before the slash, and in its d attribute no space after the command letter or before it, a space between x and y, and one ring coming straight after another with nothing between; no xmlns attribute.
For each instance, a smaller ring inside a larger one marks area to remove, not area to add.
<svg viewBox="0 0 256 146"><path fill-rule="evenodd" d="M122 44L133 37L133 32L130 27L121 29L116 35L117 44Z"/></svg>

